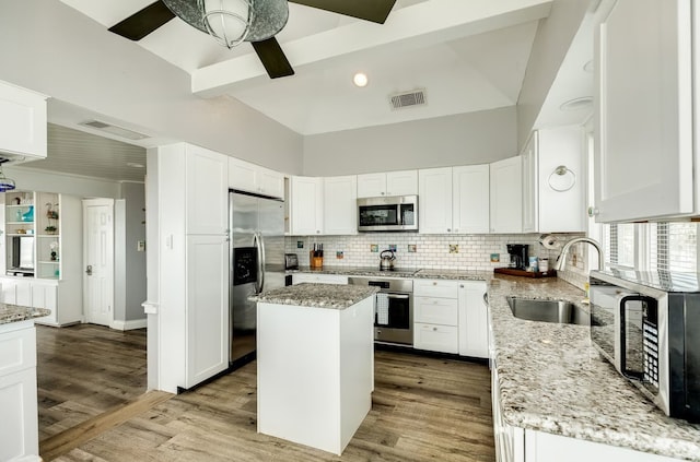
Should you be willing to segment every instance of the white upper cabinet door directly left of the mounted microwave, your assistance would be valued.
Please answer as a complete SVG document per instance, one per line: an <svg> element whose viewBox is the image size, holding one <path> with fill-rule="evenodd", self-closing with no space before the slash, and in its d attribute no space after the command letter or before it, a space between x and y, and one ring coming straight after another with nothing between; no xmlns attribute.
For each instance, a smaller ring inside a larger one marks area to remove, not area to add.
<svg viewBox="0 0 700 462"><path fill-rule="evenodd" d="M358 234L358 177L324 178L324 234Z"/></svg>

